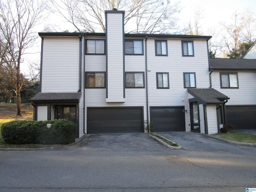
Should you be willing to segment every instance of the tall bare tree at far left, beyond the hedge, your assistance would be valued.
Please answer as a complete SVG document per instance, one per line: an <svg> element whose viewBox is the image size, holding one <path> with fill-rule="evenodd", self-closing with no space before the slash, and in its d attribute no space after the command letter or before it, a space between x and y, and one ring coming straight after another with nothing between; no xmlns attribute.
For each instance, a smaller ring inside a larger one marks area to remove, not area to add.
<svg viewBox="0 0 256 192"><path fill-rule="evenodd" d="M46 1L40 0L2 0L0 1L0 36L1 60L0 66L4 69L4 78L12 87L17 98L17 116L21 115L20 92L27 86L20 66L24 62L26 50L31 48L38 35L32 29L43 18Z"/></svg>

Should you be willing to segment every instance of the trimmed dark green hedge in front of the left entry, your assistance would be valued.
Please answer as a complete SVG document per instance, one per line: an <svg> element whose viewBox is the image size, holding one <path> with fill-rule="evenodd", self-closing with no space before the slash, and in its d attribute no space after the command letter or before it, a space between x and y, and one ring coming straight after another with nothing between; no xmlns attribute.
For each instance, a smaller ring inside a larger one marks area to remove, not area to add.
<svg viewBox="0 0 256 192"><path fill-rule="evenodd" d="M70 144L75 141L76 130L77 124L65 119L11 121L2 125L1 135L8 144Z"/></svg>

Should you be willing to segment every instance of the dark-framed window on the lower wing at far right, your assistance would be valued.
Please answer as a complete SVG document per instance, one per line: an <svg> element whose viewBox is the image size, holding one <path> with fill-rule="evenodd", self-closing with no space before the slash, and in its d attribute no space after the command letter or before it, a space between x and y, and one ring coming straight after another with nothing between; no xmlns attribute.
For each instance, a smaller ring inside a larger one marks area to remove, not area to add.
<svg viewBox="0 0 256 192"><path fill-rule="evenodd" d="M237 73L220 73L221 88L238 88Z"/></svg>

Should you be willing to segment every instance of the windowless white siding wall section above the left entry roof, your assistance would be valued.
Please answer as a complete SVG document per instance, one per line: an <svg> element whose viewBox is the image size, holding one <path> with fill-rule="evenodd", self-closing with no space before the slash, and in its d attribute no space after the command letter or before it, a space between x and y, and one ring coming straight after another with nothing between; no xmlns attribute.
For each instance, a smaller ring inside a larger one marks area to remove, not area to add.
<svg viewBox="0 0 256 192"><path fill-rule="evenodd" d="M77 92L79 38L44 38L42 92Z"/></svg>

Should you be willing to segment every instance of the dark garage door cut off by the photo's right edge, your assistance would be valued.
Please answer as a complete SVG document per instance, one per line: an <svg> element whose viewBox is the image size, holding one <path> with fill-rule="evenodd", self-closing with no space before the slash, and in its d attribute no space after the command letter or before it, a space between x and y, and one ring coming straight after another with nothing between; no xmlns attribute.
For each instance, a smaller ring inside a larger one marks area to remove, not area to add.
<svg viewBox="0 0 256 192"><path fill-rule="evenodd" d="M226 106L226 117L234 130L256 129L256 106Z"/></svg>

